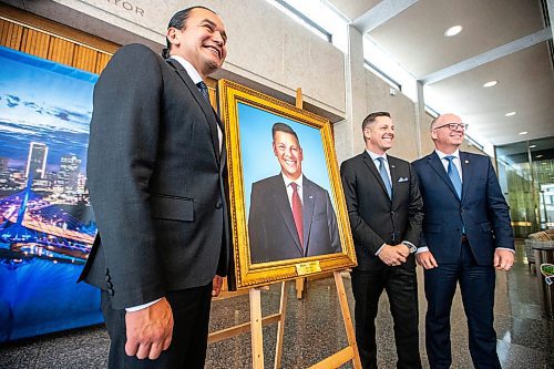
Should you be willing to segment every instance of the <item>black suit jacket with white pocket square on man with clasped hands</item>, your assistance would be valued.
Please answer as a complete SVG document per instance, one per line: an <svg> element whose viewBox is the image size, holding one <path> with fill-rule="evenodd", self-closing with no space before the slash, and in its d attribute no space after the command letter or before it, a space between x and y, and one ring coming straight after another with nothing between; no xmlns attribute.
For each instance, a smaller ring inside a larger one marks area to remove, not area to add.
<svg viewBox="0 0 554 369"><path fill-rule="evenodd" d="M392 182L392 201L379 170L363 151L340 166L342 187L352 228L358 269L369 270L382 263L375 254L384 244L419 243L423 202L411 165L387 156ZM416 267L414 258L408 265Z"/></svg>

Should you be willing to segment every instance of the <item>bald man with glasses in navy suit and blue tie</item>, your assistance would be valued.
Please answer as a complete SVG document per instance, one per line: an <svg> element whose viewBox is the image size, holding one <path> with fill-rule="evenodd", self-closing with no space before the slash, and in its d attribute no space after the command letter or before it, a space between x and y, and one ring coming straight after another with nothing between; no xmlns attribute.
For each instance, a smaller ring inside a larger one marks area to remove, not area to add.
<svg viewBox="0 0 554 369"><path fill-rule="evenodd" d="M435 150L412 163L423 196L417 254L425 269L425 345L431 368L450 368L450 310L456 284L475 368L501 368L493 327L495 270L514 262L509 207L489 157L459 150L468 127L454 114L431 123Z"/></svg>

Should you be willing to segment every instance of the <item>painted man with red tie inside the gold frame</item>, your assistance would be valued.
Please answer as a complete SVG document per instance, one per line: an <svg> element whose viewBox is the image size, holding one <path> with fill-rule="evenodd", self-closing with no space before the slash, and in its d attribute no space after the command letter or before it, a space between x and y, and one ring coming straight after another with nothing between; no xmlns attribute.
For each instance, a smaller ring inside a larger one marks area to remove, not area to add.
<svg viewBox="0 0 554 369"><path fill-rule="evenodd" d="M302 174L304 152L298 135L285 123L275 123L271 133L281 173L252 186L252 263L340 253L329 193Z"/></svg>

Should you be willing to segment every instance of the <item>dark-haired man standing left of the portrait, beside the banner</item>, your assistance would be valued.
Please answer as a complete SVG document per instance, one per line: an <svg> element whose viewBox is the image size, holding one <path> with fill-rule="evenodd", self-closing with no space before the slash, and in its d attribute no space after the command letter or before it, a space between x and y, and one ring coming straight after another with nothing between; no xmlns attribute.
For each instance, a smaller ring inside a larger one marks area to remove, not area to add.
<svg viewBox="0 0 554 369"><path fill-rule="evenodd" d="M225 60L225 27L193 7L166 37L166 60L126 45L94 89L99 235L80 280L102 289L110 368L204 368L211 298L227 273L225 141L204 83Z"/></svg>

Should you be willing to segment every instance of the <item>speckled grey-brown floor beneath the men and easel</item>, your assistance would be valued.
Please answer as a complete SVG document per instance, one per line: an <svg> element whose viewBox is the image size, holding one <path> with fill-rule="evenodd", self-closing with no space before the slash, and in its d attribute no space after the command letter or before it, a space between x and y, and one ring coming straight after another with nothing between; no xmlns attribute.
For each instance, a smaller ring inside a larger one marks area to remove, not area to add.
<svg viewBox="0 0 554 369"><path fill-rule="evenodd" d="M497 350L503 368L554 369L554 321L541 318L536 277L524 264L519 247L512 271L499 273L496 280L495 327ZM420 274L420 348L423 366L427 356L423 345L423 297ZM347 296L352 310L350 280L345 277ZM332 278L309 283L302 300L297 300L293 284L288 286L283 368L307 368L332 355L347 344ZM264 315L277 312L279 286L263 291ZM230 327L248 319L248 296L213 304L211 330ZM465 316L460 296L452 309L453 368L471 368L468 350ZM394 368L396 350L392 320L383 295L378 317L378 361L380 368ZM264 328L264 353L267 368L275 357L276 328ZM109 338L103 327L79 329L0 346L0 368L104 368ZM248 334L208 347L206 368L249 368L250 338ZM345 368L351 368L350 365Z"/></svg>

